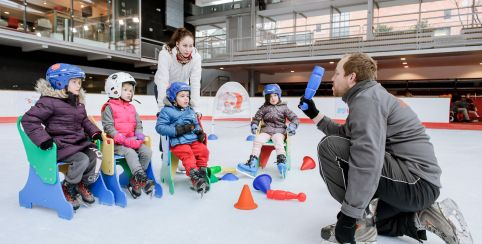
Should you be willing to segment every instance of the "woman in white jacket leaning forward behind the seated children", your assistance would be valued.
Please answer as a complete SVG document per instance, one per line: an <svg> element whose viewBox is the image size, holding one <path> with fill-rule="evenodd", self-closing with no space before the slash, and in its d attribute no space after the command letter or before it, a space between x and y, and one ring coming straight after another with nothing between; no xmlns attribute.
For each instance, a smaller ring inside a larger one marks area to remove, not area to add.
<svg viewBox="0 0 482 244"><path fill-rule="evenodd" d="M159 52L154 77L159 108L164 107L166 89L176 81L191 86L191 107L200 112L197 111L197 107L201 95L201 55L194 47L194 35L185 28L177 29L171 40Z"/></svg>

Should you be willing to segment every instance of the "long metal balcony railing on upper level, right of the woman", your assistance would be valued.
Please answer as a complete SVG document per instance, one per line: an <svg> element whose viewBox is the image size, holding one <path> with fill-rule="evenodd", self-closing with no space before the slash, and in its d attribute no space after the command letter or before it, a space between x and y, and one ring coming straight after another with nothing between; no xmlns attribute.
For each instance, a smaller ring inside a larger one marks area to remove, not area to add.
<svg viewBox="0 0 482 244"><path fill-rule="evenodd" d="M354 19L337 22L337 28L333 23L320 23L259 28L255 37L208 36L196 46L203 62L209 63L482 45L482 23L472 21L478 14L472 9L452 9L459 13L452 18L444 16L446 10L417 12L419 18L414 13L377 17L371 35L366 19Z"/></svg>

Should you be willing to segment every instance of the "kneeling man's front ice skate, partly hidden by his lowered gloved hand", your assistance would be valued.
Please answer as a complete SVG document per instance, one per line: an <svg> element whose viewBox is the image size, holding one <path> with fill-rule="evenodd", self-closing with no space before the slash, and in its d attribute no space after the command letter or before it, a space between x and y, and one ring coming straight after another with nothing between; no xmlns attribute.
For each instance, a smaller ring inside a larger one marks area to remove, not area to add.
<svg viewBox="0 0 482 244"><path fill-rule="evenodd" d="M356 222L355 242L357 244L376 244L377 227L375 226L374 216L377 208L378 199L373 199L366 210L364 219ZM335 224L325 226L321 229L321 243L338 243L335 238Z"/></svg>

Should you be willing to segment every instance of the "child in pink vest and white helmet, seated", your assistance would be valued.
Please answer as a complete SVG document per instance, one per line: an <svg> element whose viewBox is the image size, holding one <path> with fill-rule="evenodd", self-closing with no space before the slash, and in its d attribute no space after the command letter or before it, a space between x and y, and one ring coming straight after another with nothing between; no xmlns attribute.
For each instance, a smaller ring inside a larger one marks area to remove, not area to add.
<svg viewBox="0 0 482 244"><path fill-rule="evenodd" d="M109 100L101 109L104 131L114 139L114 153L125 158L132 172L127 190L134 199L141 196L142 190L151 194L155 186L146 174L152 151L144 145L142 121L130 103L135 85L136 80L128 73L111 74L105 81Z"/></svg>

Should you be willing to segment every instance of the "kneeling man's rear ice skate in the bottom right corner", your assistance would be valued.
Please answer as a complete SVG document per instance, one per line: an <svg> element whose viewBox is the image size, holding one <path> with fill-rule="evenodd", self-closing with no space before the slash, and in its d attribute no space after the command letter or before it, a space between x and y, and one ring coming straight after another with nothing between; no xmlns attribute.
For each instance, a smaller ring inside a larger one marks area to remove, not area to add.
<svg viewBox="0 0 482 244"><path fill-rule="evenodd" d="M473 243L462 212L450 198L435 202L429 208L419 211L415 215L415 222L418 228L433 232L445 243Z"/></svg>

